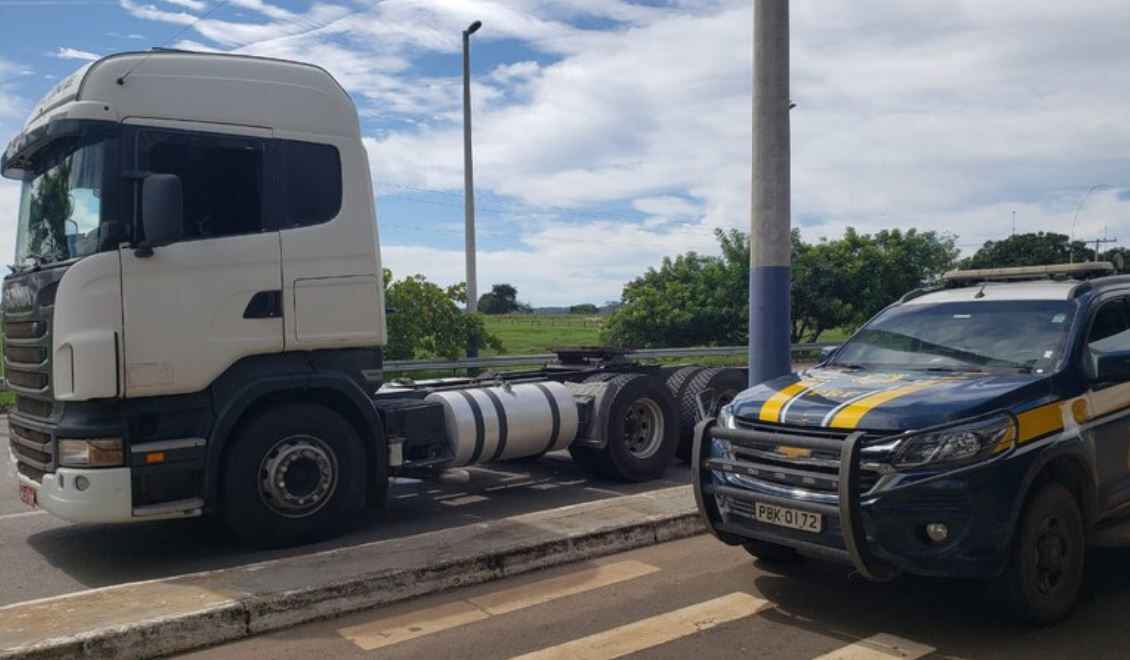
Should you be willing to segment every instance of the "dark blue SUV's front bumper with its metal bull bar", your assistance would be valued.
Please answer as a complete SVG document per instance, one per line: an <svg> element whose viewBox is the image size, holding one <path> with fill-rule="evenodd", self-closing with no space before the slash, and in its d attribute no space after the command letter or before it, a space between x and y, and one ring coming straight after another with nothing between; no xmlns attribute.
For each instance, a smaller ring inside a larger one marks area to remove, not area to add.
<svg viewBox="0 0 1130 660"><path fill-rule="evenodd" d="M793 448L840 453L837 490L812 496L800 489L782 493L780 488L759 487L756 478L744 476L740 462L711 455L713 437L734 443L773 438L762 432L720 428L712 419L696 429L692 472L695 498L707 529L724 542L755 539L792 547L850 564L871 580L897 573L989 578L1003 567L1014 506L1010 494L1020 490L1024 460L861 493L862 433L842 442L796 435L776 438ZM808 532L759 522L753 514L757 503L818 513L823 528ZM930 523L945 524L947 538L928 538L925 528Z"/></svg>

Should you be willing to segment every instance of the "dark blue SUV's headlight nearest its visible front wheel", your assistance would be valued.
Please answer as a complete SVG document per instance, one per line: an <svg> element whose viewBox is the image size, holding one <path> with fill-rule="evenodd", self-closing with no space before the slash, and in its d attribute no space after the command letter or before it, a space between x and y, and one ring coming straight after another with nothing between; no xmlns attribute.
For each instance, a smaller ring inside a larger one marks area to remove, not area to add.
<svg viewBox="0 0 1130 660"><path fill-rule="evenodd" d="M912 435L895 452L897 469L972 463L1016 445L1016 420L1000 414L949 428Z"/></svg>

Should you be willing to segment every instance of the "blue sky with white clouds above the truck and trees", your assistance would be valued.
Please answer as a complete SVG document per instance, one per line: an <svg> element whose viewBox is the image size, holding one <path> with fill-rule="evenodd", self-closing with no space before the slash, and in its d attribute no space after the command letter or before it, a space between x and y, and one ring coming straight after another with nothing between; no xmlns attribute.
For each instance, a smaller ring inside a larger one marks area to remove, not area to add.
<svg viewBox="0 0 1130 660"><path fill-rule="evenodd" d="M386 266L462 279L460 31L479 287L600 303L749 222L753 0L0 0L0 136L98 55L306 60L356 101ZM1130 243L1130 3L793 0L793 224ZM0 252L18 188L0 183Z"/></svg>

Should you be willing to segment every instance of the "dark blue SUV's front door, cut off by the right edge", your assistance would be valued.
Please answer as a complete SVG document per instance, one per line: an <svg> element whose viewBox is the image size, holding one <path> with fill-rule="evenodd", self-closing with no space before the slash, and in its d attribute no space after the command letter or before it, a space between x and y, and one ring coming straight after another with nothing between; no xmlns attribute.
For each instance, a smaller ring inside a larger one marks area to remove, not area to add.
<svg viewBox="0 0 1130 660"><path fill-rule="evenodd" d="M1092 348L1130 349L1130 310L1127 298L1106 301L1090 319L1087 333ZM1088 417L1095 420L1092 438L1099 480L1099 502L1105 511L1130 501L1130 382L1092 383L1087 393Z"/></svg>

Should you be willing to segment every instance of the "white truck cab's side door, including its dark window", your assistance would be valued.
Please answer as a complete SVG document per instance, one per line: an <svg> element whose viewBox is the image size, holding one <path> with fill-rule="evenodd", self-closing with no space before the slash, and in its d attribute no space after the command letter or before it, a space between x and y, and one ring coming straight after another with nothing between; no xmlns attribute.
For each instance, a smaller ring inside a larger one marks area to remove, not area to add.
<svg viewBox="0 0 1130 660"><path fill-rule="evenodd" d="M180 176L184 229L149 257L121 249L128 397L200 391L241 357L282 350L270 132L176 127L133 131L138 171Z"/></svg>

